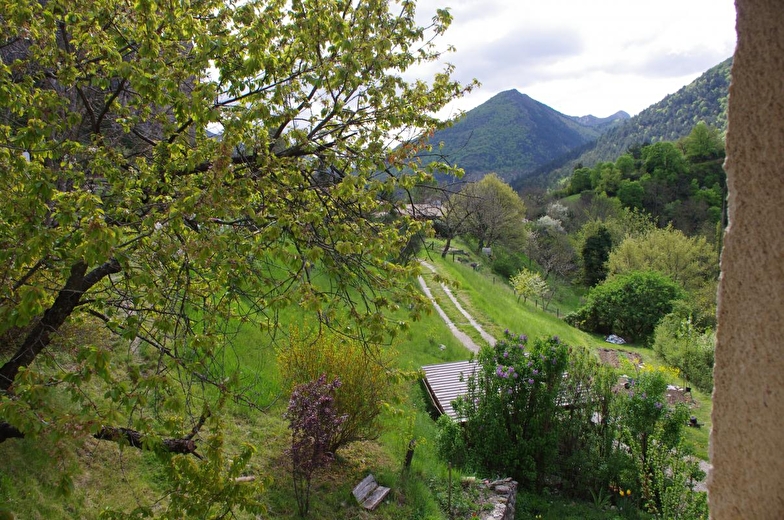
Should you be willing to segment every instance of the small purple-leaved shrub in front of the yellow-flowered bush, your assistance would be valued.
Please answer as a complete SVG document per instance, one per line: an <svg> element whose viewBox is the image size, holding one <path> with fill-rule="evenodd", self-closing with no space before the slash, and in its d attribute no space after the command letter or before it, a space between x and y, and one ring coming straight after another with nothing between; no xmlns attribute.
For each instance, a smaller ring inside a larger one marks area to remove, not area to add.
<svg viewBox="0 0 784 520"><path fill-rule="evenodd" d="M294 388L285 417L291 430L292 476L294 494L300 515L305 516L310 508L310 481L313 473L332 462L334 453L330 447L338 434L345 415L338 415L333 394L340 380L327 383L323 374L316 381Z"/></svg>

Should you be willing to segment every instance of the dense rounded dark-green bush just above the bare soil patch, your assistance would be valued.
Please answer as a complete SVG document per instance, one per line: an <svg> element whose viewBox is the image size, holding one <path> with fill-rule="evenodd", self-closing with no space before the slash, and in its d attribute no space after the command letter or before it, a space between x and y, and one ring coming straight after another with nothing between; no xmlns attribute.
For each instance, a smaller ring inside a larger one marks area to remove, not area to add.
<svg viewBox="0 0 784 520"><path fill-rule="evenodd" d="M585 306L566 319L583 330L647 340L681 296L680 287L666 276L635 271L594 287Z"/></svg>

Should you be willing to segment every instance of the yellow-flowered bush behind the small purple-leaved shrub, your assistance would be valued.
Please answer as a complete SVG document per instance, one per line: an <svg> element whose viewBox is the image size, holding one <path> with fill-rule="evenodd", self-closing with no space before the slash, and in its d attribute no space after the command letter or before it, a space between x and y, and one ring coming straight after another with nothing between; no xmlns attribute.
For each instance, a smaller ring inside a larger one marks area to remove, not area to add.
<svg viewBox="0 0 784 520"><path fill-rule="evenodd" d="M394 397L399 375L391 367L390 352L329 332L306 337L292 327L289 345L280 351L278 361L287 390L322 374L329 380L340 379L335 408L346 420L332 438L330 451L378 437L378 417L384 403Z"/></svg>

